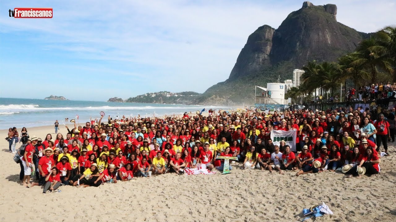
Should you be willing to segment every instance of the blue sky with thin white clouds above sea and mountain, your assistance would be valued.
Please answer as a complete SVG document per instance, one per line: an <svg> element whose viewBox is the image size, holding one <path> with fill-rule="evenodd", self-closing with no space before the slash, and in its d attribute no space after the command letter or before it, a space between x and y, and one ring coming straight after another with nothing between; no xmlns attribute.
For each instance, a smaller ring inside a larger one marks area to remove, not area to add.
<svg viewBox="0 0 396 222"><path fill-rule="evenodd" d="M318 0L361 32L395 25L394 0ZM278 28L296 0L0 1L0 97L107 101L204 92L225 81L249 34ZM53 8L15 19L14 8Z"/></svg>

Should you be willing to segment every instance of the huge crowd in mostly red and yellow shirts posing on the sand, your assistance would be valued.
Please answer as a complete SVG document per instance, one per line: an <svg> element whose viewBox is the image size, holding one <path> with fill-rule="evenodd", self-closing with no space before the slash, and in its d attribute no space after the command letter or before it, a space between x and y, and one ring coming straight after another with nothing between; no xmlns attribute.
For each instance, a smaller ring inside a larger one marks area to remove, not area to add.
<svg viewBox="0 0 396 222"><path fill-rule="evenodd" d="M20 164L22 184L44 186L45 193L61 185L100 186L133 177L181 175L186 168L222 171L224 160L218 156L236 157L246 170L287 170L296 176L341 170L349 177L370 176L381 171L381 156L388 155L396 129L394 107L382 113L360 107L282 113L245 109L209 110L207 117L186 112L180 117L102 119L84 126L74 122L66 135L55 137L10 128L6 139ZM285 141L273 143L272 130L294 129L295 150ZM23 145L16 151L18 141ZM232 165L236 163L230 169Z"/></svg>

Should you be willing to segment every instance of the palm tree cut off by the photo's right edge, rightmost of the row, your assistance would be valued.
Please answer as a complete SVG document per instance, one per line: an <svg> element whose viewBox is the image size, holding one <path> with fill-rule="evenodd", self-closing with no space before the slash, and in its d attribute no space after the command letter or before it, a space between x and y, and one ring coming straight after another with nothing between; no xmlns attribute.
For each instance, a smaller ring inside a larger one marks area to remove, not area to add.
<svg viewBox="0 0 396 222"><path fill-rule="evenodd" d="M386 26L375 34L377 51L382 51L383 58L388 59L393 68L392 80L396 82L396 26Z"/></svg>

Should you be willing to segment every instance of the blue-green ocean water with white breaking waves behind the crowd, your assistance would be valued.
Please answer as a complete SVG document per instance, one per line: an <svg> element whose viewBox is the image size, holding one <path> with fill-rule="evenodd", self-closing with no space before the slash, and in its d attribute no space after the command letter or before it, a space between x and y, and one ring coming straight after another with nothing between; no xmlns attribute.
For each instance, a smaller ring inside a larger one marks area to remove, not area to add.
<svg viewBox="0 0 396 222"><path fill-rule="evenodd" d="M95 102L76 100L38 100L0 98L0 129L16 127L34 127L53 125L58 120L59 126L65 124L65 118L76 119L80 124L89 121L89 118L100 118L100 111L105 112L103 119L107 121L110 115L118 117L153 117L163 115L183 114L196 112L202 109L228 109L227 107L209 107L202 105L177 105L153 103L118 103ZM78 120L76 116L78 115ZM69 126L70 122L68 122ZM29 129L28 129L29 130Z"/></svg>

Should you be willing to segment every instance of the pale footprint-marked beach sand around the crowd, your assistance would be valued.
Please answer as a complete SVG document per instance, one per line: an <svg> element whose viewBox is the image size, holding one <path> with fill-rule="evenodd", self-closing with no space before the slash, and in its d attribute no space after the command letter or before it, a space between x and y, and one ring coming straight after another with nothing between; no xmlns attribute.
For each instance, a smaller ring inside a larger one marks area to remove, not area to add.
<svg viewBox="0 0 396 222"><path fill-rule="evenodd" d="M7 131L0 130L2 138ZM28 132L44 139L54 129ZM227 175L169 173L98 188L61 186L61 192L42 194L39 186L20 185L19 164L8 142L0 141L0 221L298 221L303 208L322 201L334 214L315 221L396 221L395 143L390 156L381 158L381 173L360 179L334 172L270 174L242 170L236 163Z"/></svg>

